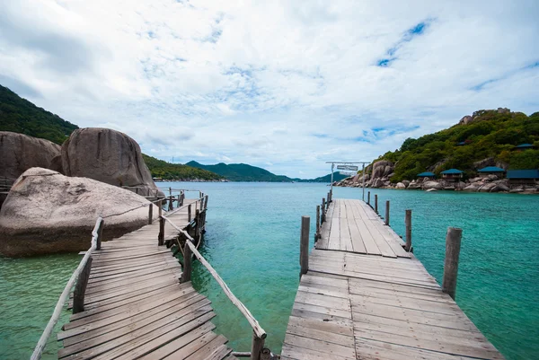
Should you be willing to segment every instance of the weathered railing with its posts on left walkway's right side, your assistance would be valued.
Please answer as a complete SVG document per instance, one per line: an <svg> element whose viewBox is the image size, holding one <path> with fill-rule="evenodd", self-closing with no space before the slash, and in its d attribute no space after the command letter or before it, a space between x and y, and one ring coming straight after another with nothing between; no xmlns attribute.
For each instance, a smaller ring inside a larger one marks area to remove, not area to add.
<svg viewBox="0 0 539 360"><path fill-rule="evenodd" d="M205 207L202 207L203 209L206 209L206 206L208 205L208 197L206 197L206 203ZM161 221L167 222L168 224L172 225L174 229L176 229L179 233L182 233L185 237L185 245L183 246L183 268L181 273L181 283L185 283L190 281L191 278L191 269L192 269L192 256L194 255L195 258L199 259L200 263L208 270L208 272L211 274L212 277L216 280L217 284L221 286L221 289L223 289L223 292L225 293L226 297L228 297L228 300L230 300L231 303L234 304L234 306L243 314L245 319L249 322L252 328L252 346L251 346L251 352L243 352L243 353L233 353L235 356L249 356L252 360L260 360L261 356L270 356L271 352L269 348L264 347L264 341L267 337L267 333L264 329L261 328L261 325L259 324L258 320L252 316L252 313L245 307L245 305L232 293L228 285L226 285L225 281L222 277L219 276L219 274L216 272L216 269L213 268L208 260L204 259L204 257L199 253L199 250L197 250L197 246L195 245L194 241L190 234L186 232L185 230L178 227L176 224L172 223L172 221L167 217L167 215L160 216ZM180 241L178 240L178 246L181 248Z"/></svg>

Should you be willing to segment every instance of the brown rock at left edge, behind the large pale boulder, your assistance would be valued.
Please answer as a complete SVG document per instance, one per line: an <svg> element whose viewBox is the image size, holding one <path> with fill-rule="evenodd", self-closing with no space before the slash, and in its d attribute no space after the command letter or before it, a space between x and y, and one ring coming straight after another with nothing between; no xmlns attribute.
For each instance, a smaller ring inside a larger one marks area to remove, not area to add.
<svg viewBox="0 0 539 360"><path fill-rule="evenodd" d="M0 131L0 174L17 179L32 167L49 169L60 154L60 146L37 137Z"/></svg>

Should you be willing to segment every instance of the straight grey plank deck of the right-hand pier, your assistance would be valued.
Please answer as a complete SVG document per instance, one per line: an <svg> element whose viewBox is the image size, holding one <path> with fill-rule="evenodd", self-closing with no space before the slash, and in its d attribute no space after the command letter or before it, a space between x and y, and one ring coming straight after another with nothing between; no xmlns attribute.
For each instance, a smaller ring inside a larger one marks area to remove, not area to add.
<svg viewBox="0 0 539 360"><path fill-rule="evenodd" d="M367 204L334 199L321 233L281 359L503 359Z"/></svg>

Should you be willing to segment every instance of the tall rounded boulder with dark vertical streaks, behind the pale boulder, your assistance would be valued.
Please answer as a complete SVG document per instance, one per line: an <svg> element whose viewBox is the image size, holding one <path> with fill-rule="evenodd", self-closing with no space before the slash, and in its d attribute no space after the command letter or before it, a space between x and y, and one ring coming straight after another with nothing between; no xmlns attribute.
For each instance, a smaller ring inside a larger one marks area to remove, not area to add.
<svg viewBox="0 0 539 360"><path fill-rule="evenodd" d="M110 128L75 130L62 145L62 168L67 176L136 188L141 195L153 195L157 189L137 142Z"/></svg>

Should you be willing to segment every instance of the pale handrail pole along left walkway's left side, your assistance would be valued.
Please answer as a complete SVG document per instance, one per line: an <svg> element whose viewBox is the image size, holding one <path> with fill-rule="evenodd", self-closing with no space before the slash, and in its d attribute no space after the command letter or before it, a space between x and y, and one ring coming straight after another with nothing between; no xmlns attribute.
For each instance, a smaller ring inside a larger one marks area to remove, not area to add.
<svg viewBox="0 0 539 360"><path fill-rule="evenodd" d="M43 333L41 334L40 341L38 341L38 344L34 348L34 351L31 355L31 360L39 360L41 357L41 354L43 353L43 350L47 346L47 341L49 341L50 334L52 333L52 330L54 329L55 325L57 324L58 319L60 318L60 314L62 313L62 309L64 308L64 303L66 303L67 297L69 296L69 292L71 291L71 288L73 285L75 285L75 281L81 274L81 272L84 269L84 266L88 262L88 259L90 259L90 256L92 255L93 250L97 248L97 240L99 237L99 228L102 226L103 219L102 217L98 217L97 221L95 222L95 226L93 227L92 232L92 242L90 249L86 251L84 254L84 258L81 259L81 262L79 263L78 267L75 268L75 271L73 272L73 275L69 278L69 281L67 281L66 287L64 288L64 291L62 294L60 294L60 297L58 298L57 304L54 308L54 312L52 312L52 316L50 317L49 323L47 324L47 327L43 330Z"/></svg>

